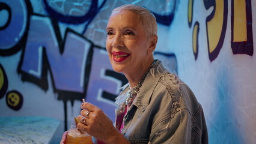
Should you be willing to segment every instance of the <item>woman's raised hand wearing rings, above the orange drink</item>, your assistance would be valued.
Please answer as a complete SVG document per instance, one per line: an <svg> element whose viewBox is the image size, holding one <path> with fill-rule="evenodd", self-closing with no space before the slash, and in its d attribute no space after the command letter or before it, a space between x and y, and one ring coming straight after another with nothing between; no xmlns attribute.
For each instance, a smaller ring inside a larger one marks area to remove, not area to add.
<svg viewBox="0 0 256 144"><path fill-rule="evenodd" d="M86 102L82 103L81 109L83 110L78 116L78 120L81 121L78 128L82 133L86 132L105 143L117 143L116 140L128 142L99 107Z"/></svg>

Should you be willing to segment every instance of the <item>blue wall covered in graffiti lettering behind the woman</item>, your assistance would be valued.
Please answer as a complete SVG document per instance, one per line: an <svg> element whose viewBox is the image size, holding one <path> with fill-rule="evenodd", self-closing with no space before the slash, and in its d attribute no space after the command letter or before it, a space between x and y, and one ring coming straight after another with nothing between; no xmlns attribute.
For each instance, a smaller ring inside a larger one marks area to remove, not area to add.
<svg viewBox="0 0 256 144"><path fill-rule="evenodd" d="M256 0L0 0L0 116L61 122L58 143L82 98L114 121L127 83L105 49L111 11L147 7L158 23L154 57L194 91L210 143L256 140Z"/></svg>

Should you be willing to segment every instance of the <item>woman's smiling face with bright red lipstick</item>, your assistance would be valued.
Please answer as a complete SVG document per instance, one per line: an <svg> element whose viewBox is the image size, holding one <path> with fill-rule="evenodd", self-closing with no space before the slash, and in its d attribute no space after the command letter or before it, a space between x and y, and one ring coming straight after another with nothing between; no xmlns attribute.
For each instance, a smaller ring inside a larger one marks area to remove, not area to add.
<svg viewBox="0 0 256 144"><path fill-rule="evenodd" d="M136 73L152 55L150 38L132 11L114 11L106 28L106 49L113 69L119 73Z"/></svg>

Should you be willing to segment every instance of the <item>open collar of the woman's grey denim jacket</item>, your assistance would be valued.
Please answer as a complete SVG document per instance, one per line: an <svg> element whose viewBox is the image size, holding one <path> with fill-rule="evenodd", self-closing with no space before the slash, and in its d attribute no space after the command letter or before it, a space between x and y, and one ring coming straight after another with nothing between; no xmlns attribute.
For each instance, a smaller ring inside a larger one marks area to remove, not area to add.
<svg viewBox="0 0 256 144"><path fill-rule="evenodd" d="M147 108L150 102L151 95L153 94L154 88L156 87L157 82L159 81L162 75L161 73L163 73L163 71L165 71L165 68L163 67L162 62L156 60L156 64L154 64L154 66L150 68L150 71L145 77L145 80L142 83L142 86L139 89L139 92L136 95L135 100L133 101L133 105L138 107L138 109L144 111ZM121 88L122 92L116 98L115 103L117 103L119 106L124 106L125 104L124 102L126 100L128 86L129 83L124 85Z"/></svg>

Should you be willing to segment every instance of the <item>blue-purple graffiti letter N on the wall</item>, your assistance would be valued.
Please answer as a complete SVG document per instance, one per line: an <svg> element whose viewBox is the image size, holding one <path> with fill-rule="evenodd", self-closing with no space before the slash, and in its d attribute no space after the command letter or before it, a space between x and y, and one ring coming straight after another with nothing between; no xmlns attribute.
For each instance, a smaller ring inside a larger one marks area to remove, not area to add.
<svg viewBox="0 0 256 144"><path fill-rule="evenodd" d="M59 52L55 31L48 17L32 16L24 51L22 71L41 79L43 50L56 89L84 92L84 76L91 42L78 34L67 32L64 52Z"/></svg>

